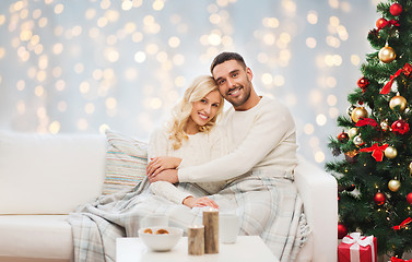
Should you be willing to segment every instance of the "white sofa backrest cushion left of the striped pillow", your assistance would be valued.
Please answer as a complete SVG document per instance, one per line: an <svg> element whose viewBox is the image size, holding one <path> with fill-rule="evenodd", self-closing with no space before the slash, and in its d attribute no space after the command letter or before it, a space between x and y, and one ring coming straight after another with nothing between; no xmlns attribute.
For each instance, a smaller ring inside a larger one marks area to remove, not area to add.
<svg viewBox="0 0 412 262"><path fill-rule="evenodd" d="M102 194L105 136L0 132L0 214L68 214Z"/></svg>

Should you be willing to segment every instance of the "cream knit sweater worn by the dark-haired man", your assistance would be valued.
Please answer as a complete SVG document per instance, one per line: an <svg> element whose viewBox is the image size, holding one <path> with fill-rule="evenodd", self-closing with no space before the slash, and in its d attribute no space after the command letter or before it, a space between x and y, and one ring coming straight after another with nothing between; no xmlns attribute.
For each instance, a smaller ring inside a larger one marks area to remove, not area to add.
<svg viewBox="0 0 412 262"><path fill-rule="evenodd" d="M178 169L180 182L231 180L251 169L293 170L297 164L295 122L286 106L263 97L246 111L231 108L223 126L229 154Z"/></svg>

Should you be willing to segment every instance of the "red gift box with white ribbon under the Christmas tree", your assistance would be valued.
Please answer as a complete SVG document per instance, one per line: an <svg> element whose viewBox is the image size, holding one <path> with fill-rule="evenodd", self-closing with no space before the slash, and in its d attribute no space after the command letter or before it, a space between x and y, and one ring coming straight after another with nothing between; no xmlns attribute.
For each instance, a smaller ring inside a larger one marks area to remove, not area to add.
<svg viewBox="0 0 412 262"><path fill-rule="evenodd" d="M360 233L351 233L338 246L339 262L376 262L376 237L362 237Z"/></svg>

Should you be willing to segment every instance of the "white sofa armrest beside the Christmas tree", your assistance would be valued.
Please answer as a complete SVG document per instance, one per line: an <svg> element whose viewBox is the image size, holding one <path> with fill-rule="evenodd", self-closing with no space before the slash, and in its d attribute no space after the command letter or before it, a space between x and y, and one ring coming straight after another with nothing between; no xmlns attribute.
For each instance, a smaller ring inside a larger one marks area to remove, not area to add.
<svg viewBox="0 0 412 262"><path fill-rule="evenodd" d="M295 183L313 233L314 262L337 261L338 183L334 177L298 155Z"/></svg>

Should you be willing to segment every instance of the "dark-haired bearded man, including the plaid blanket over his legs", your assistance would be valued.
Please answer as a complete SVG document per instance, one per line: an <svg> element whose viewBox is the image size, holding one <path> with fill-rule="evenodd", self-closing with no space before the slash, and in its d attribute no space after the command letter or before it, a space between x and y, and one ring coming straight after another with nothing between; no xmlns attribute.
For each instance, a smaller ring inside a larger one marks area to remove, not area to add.
<svg viewBox="0 0 412 262"><path fill-rule="evenodd" d="M208 196L223 212L236 212L243 235L259 235L280 261L294 261L309 230L293 181L297 164L294 120L283 104L257 95L254 74L240 55L222 52L211 73L221 95L232 104L223 128L229 154L199 166L157 169L149 180L227 181Z"/></svg>

